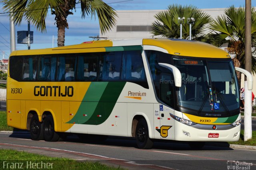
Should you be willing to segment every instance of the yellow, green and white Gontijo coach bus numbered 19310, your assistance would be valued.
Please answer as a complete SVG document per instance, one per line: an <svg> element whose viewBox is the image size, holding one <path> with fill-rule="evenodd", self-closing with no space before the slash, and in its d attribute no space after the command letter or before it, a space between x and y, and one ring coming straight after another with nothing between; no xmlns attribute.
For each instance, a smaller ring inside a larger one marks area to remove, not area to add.
<svg viewBox="0 0 256 170"><path fill-rule="evenodd" d="M179 39L102 40L11 53L8 126L32 140L65 132L154 139L237 141L239 88L228 53ZM86 136L86 135L85 135Z"/></svg>

